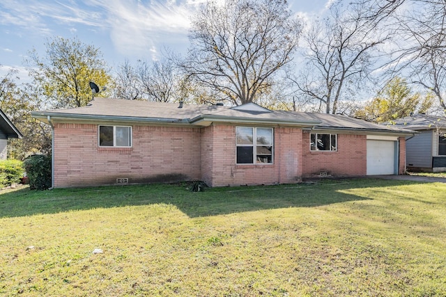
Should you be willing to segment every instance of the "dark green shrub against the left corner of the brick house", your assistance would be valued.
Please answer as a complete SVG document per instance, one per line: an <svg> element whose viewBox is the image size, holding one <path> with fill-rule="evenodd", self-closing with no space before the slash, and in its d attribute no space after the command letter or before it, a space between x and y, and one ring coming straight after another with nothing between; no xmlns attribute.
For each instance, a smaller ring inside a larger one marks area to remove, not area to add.
<svg viewBox="0 0 446 297"><path fill-rule="evenodd" d="M51 186L51 156L35 154L24 161L29 188L46 190Z"/></svg>

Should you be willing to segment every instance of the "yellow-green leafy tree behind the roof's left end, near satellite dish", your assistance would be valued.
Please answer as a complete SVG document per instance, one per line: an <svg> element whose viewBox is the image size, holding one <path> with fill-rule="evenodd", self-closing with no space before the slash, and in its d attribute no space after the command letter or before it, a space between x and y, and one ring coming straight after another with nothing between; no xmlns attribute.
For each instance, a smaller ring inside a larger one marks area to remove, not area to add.
<svg viewBox="0 0 446 297"><path fill-rule="evenodd" d="M40 86L52 108L85 106L92 97L90 81L109 86L112 78L99 49L77 38L53 38L46 44L46 56L40 58L36 49L25 61L34 84Z"/></svg>

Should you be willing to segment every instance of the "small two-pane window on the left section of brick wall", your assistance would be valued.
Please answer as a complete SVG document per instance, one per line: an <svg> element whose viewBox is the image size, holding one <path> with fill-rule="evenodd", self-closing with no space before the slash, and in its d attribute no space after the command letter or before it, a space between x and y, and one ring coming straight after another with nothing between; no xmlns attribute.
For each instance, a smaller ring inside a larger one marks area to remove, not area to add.
<svg viewBox="0 0 446 297"><path fill-rule="evenodd" d="M99 126L100 147L131 147L132 127Z"/></svg>

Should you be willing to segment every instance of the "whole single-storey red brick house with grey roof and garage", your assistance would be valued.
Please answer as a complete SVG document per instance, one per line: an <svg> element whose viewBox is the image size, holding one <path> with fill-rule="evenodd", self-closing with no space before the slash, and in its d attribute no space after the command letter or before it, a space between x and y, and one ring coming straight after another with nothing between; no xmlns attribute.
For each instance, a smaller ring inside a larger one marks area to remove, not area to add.
<svg viewBox="0 0 446 297"><path fill-rule="evenodd" d="M33 111L53 129L53 186L202 180L284 184L406 170L413 131L345 115L95 98Z"/></svg>

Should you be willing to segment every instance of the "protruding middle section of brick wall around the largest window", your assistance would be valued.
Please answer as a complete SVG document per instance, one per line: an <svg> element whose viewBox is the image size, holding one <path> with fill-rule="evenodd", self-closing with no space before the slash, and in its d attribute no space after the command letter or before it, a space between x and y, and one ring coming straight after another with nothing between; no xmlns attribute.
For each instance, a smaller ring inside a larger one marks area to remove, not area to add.
<svg viewBox="0 0 446 297"><path fill-rule="evenodd" d="M239 186L254 184L284 184L300 180L302 166L300 166L300 150L302 131L297 128L274 129L274 163L272 164L236 164L236 126L217 125L205 128L206 141L202 139L203 156L209 148L203 145L212 143L212 157L206 156L202 160L201 172L203 181L209 186ZM211 162L209 166L207 163ZM206 167L206 169L205 169ZM207 170L210 168L209 173Z"/></svg>

